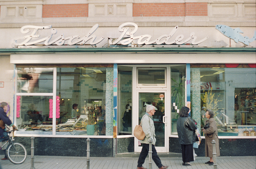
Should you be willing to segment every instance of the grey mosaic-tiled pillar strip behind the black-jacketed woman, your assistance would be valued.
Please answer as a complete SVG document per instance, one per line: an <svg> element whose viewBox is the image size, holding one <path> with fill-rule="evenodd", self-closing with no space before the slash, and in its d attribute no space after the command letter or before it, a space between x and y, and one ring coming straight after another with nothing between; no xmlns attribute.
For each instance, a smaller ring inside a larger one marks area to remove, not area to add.
<svg viewBox="0 0 256 169"><path fill-rule="evenodd" d="M191 107L192 118L198 123L201 130L201 93L200 93L200 68L191 68Z"/></svg>

